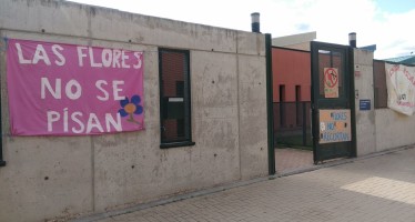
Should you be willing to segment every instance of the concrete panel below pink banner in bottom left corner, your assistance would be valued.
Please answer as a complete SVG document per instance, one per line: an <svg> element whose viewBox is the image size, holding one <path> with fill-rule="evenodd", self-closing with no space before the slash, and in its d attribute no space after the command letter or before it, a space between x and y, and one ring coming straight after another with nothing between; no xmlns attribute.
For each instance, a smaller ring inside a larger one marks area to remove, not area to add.
<svg viewBox="0 0 415 222"><path fill-rule="evenodd" d="M90 138L7 137L3 144L0 221L93 211Z"/></svg>

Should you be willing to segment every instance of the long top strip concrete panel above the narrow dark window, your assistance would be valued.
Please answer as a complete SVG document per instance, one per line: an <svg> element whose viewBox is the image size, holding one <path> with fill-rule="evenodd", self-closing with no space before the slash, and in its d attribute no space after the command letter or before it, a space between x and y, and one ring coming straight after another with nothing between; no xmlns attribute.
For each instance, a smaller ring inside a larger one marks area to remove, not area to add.
<svg viewBox="0 0 415 222"><path fill-rule="evenodd" d="M128 29L125 29L126 27ZM103 8L94 9L91 17L91 34L92 38L160 47L222 52L236 51L236 31L233 30Z"/></svg>

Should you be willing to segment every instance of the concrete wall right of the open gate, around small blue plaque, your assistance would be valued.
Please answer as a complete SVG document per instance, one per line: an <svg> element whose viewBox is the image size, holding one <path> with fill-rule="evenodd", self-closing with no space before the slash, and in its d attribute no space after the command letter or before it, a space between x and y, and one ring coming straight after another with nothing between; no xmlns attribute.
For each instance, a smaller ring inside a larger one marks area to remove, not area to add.
<svg viewBox="0 0 415 222"><path fill-rule="evenodd" d="M374 108L373 52L354 50L357 155L415 144L415 117ZM360 110L370 100L371 110Z"/></svg>

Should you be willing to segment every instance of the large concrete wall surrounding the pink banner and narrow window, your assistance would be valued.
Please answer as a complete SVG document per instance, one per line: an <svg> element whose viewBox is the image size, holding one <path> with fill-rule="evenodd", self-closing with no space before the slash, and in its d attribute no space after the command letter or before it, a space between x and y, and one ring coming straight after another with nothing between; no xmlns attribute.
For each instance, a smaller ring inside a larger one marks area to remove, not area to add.
<svg viewBox="0 0 415 222"><path fill-rule="evenodd" d="M267 174L265 38L51 0L2 0L0 37L144 51L146 129L11 137L1 40L0 221L90 214ZM158 48L190 50L194 147L160 149Z"/></svg>

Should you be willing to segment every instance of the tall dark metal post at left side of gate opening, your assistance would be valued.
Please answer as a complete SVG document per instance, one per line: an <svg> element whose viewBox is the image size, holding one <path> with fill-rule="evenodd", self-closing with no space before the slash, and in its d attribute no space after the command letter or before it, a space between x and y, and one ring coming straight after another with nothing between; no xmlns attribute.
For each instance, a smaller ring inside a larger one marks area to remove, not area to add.
<svg viewBox="0 0 415 222"><path fill-rule="evenodd" d="M266 60L266 115L269 135L269 174L275 174L275 148L274 148L274 112L273 112L273 82L272 82L272 44L271 34L265 34Z"/></svg>

